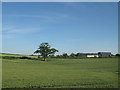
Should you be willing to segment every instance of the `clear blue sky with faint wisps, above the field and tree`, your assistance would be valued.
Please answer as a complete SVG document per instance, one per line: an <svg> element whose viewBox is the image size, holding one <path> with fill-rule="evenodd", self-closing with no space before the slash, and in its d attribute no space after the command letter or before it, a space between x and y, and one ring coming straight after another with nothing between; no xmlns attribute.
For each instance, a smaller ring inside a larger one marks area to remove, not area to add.
<svg viewBox="0 0 120 90"><path fill-rule="evenodd" d="M56 54L118 52L117 2L2 5L3 52L32 54L42 42Z"/></svg>

